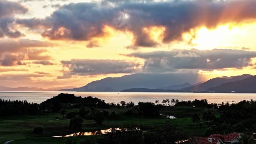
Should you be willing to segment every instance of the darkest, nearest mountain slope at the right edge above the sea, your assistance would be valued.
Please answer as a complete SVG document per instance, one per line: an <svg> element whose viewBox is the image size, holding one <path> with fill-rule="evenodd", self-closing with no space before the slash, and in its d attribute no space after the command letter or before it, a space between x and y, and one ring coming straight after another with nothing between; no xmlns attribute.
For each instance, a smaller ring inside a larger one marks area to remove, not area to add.
<svg viewBox="0 0 256 144"><path fill-rule="evenodd" d="M207 91L215 92L241 92L241 93L254 93L256 92L256 76L251 76L243 80L237 80L235 82L224 83L220 86L207 89Z"/></svg>

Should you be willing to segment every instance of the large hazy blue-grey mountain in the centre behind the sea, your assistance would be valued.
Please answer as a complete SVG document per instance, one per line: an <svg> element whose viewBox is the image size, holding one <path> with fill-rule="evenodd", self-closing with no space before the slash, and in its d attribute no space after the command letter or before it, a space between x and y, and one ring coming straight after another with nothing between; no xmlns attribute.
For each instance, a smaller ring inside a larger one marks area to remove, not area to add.
<svg viewBox="0 0 256 144"><path fill-rule="evenodd" d="M130 74L122 77L107 77L75 89L60 91L122 91L129 88L155 89L185 82L196 83L204 80L198 74Z"/></svg>

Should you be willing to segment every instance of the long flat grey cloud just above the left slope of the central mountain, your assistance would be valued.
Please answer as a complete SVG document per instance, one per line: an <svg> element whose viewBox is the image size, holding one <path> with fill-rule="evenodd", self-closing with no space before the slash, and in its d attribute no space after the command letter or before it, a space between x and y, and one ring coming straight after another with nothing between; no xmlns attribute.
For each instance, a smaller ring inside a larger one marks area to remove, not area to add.
<svg viewBox="0 0 256 144"><path fill-rule="evenodd" d="M112 59L72 59L61 63L63 67L69 68L68 74L77 75L132 73L138 67L135 62Z"/></svg>

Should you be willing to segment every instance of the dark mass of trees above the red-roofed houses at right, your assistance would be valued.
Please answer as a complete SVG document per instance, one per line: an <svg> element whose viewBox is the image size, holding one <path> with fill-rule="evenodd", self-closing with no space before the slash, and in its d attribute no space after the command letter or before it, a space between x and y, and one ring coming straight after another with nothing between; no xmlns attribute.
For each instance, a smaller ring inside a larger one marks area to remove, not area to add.
<svg viewBox="0 0 256 144"><path fill-rule="evenodd" d="M205 136L210 134L228 134L231 132L246 132L252 134L256 131L256 101L240 101L229 104L222 102L214 111L220 112L220 117L215 117L211 111L202 116L195 113L191 120L200 122L200 119L208 121ZM201 124L200 124L201 127Z"/></svg>

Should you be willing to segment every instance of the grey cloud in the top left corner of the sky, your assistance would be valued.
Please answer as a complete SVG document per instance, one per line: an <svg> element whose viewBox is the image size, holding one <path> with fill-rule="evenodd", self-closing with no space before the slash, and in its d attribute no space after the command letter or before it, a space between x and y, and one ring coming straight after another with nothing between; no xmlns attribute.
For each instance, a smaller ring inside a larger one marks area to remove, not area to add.
<svg viewBox="0 0 256 144"><path fill-rule="evenodd" d="M10 30L9 25L12 24L16 14L24 14L28 11L27 8L20 3L7 0L0 1L0 37L21 37L24 36L18 30Z"/></svg>

